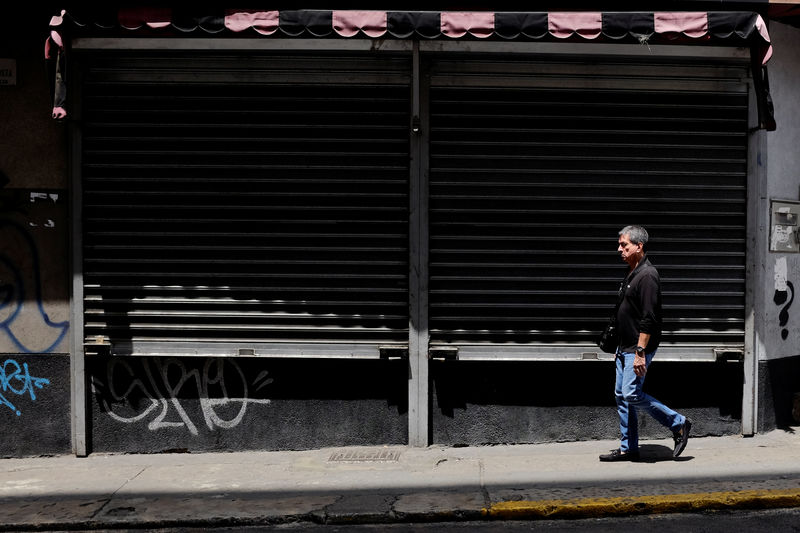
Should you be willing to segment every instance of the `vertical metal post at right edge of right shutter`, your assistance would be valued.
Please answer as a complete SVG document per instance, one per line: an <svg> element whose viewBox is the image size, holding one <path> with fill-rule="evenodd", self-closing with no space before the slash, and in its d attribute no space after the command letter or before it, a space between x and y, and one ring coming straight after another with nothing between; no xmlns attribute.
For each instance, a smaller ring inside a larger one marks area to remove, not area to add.
<svg viewBox="0 0 800 533"><path fill-rule="evenodd" d="M758 76L757 72L753 73ZM744 387L742 390L742 435L758 431L758 362L763 358L763 316L765 291L764 255L767 250L767 144L759 123L758 105L750 85L751 126L747 154L747 275L745 278Z"/></svg>

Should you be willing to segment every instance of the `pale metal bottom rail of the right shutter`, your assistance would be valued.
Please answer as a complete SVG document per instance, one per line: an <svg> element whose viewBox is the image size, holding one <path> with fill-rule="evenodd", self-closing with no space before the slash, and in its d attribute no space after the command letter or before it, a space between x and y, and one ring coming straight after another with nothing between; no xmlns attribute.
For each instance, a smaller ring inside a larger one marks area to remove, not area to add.
<svg viewBox="0 0 800 533"><path fill-rule="evenodd" d="M530 346L464 345L432 346L430 357L439 361L613 361L614 356L596 346L574 344L553 346L546 352ZM687 346L662 344L658 361L678 363L739 362L744 358L743 346Z"/></svg>

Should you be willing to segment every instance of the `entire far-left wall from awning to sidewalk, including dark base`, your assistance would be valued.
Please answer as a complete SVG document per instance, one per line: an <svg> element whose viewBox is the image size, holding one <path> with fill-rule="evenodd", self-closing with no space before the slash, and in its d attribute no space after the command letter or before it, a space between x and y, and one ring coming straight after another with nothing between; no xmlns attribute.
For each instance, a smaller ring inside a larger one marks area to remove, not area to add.
<svg viewBox="0 0 800 533"><path fill-rule="evenodd" d="M0 85L3 457L71 449L66 135L50 117L37 13L12 10L0 32L0 59L16 70Z"/></svg>

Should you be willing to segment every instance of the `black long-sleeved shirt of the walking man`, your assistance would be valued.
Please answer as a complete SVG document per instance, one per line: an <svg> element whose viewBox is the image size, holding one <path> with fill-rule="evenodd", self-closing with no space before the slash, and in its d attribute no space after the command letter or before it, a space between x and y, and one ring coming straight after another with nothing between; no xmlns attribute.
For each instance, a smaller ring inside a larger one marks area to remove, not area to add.
<svg viewBox="0 0 800 533"><path fill-rule="evenodd" d="M623 352L633 352L639 344L639 333L649 333L647 353L661 342L661 279L658 270L644 256L623 282L625 297L617 311L619 345Z"/></svg>

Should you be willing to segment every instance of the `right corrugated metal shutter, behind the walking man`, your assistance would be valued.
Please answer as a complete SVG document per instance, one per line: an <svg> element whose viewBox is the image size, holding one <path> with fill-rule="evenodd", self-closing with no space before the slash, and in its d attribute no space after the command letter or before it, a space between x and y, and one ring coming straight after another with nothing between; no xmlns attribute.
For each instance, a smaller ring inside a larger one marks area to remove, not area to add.
<svg viewBox="0 0 800 533"><path fill-rule="evenodd" d="M440 59L430 69L434 348L581 357L643 224L661 352L744 342L746 65ZM693 355L692 355L693 354Z"/></svg>

